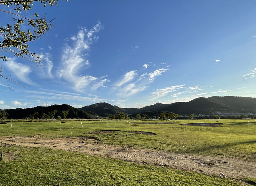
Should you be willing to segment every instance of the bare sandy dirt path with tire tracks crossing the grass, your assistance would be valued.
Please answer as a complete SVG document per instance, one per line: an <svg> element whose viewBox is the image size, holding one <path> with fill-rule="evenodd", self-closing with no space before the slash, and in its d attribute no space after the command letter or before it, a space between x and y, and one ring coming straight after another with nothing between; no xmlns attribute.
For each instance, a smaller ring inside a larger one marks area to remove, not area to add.
<svg viewBox="0 0 256 186"><path fill-rule="evenodd" d="M227 177L256 178L256 163L219 156L177 154L131 147L101 145L97 139L88 137L43 139L34 137L0 136L0 144L15 144L28 147L48 147L52 149L100 155L139 164L170 166L178 169L203 172Z"/></svg>

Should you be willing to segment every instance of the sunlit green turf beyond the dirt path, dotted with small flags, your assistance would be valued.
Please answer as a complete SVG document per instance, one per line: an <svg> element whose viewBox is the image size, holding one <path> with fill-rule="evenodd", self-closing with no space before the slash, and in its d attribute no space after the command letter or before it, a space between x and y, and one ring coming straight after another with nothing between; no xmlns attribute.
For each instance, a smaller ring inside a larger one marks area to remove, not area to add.
<svg viewBox="0 0 256 186"><path fill-rule="evenodd" d="M249 122L248 122L249 121ZM108 124L106 123L108 122ZM150 124L150 123L166 124ZM170 124L171 122L175 122ZM220 155L256 161L256 121L254 119L218 120L218 127L188 126L182 123L213 123L216 120L124 120L124 121L67 121L60 122L13 122L0 125L2 136L33 136L42 138L65 136L89 136L98 143L123 147L156 149L181 154ZM145 123L145 124L141 124ZM147 124L148 123L148 124ZM169 124L168 124L169 123ZM72 134L71 129L74 125ZM112 133L95 131L116 130ZM129 133L153 132L156 135Z"/></svg>

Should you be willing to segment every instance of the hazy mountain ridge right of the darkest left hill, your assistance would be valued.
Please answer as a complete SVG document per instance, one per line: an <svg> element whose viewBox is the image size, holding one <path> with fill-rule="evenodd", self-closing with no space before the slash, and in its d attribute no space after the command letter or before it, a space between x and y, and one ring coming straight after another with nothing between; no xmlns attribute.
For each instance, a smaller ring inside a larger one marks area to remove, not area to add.
<svg viewBox="0 0 256 186"><path fill-rule="evenodd" d="M190 114L211 114L219 112L220 114L234 113L256 113L256 98L252 97L235 97L235 96L212 96L198 97L189 102L176 102L172 104L156 103L154 105L138 108L120 108L108 103L97 103L80 108L84 111L92 111L100 116L108 116L124 112L127 115L145 112L173 112L179 115Z"/></svg>

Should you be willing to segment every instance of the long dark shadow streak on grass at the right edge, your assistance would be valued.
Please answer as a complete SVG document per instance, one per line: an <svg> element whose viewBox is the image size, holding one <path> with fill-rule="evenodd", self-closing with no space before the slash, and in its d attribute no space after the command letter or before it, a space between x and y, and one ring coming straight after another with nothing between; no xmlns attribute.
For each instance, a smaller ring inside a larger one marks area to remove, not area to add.
<svg viewBox="0 0 256 186"><path fill-rule="evenodd" d="M235 143L225 143L225 144L218 144L218 145L211 145L211 146L208 146L208 147L188 150L188 151L186 151L186 153L188 153L188 154L197 154L197 153L200 153L200 152L212 151L212 150L216 150L216 149L220 149L220 148L226 148L226 147L242 145L242 144L256 144L256 140L241 141L241 142L235 142ZM255 150L255 152L256 152L256 150Z"/></svg>

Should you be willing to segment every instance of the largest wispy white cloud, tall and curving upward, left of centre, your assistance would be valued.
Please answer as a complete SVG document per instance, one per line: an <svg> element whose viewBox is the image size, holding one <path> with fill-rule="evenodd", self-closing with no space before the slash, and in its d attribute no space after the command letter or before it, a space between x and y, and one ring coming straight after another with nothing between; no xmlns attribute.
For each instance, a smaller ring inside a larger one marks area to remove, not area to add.
<svg viewBox="0 0 256 186"><path fill-rule="evenodd" d="M98 40L99 37L94 33L99 32L103 26L96 24L91 30L87 30L85 27L81 27L79 32L71 37L73 46L70 47L67 43L63 49L61 57L61 67L58 70L60 78L73 84L73 89L76 91L82 91L91 82L96 80L100 81L100 78L92 75L81 75L81 69L88 68L90 63L88 60L84 60L83 52L89 49L89 46ZM102 81L101 81L102 82Z"/></svg>

